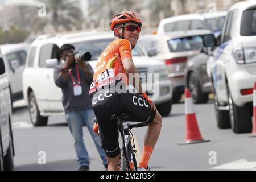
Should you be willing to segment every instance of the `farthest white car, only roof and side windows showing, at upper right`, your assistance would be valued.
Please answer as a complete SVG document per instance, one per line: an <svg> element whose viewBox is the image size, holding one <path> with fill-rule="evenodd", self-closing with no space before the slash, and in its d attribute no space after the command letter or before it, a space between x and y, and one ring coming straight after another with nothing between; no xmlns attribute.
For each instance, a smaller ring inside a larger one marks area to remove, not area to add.
<svg viewBox="0 0 256 182"><path fill-rule="evenodd" d="M160 21L157 34L165 34L174 31L187 31L207 29L217 37L220 35L226 11L216 11L204 14L185 14L164 18Z"/></svg>

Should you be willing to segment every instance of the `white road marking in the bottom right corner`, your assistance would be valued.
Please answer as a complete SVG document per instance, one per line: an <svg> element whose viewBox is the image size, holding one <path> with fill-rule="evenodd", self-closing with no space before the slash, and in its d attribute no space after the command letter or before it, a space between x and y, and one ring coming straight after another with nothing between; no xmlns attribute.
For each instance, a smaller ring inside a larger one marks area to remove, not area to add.
<svg viewBox="0 0 256 182"><path fill-rule="evenodd" d="M256 162L248 162L246 159L235 160L230 163L222 164L211 169L224 169L224 170L246 170L256 171Z"/></svg>

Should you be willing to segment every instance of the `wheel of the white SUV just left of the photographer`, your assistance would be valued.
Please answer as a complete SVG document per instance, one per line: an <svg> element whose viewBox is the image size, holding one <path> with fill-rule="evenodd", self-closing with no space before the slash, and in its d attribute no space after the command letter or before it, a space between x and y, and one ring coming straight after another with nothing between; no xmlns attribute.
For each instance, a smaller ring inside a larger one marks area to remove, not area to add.
<svg viewBox="0 0 256 182"><path fill-rule="evenodd" d="M30 120L34 126L46 126L48 117L40 115L38 105L36 104L35 95L30 92L28 96L28 111L30 113Z"/></svg>

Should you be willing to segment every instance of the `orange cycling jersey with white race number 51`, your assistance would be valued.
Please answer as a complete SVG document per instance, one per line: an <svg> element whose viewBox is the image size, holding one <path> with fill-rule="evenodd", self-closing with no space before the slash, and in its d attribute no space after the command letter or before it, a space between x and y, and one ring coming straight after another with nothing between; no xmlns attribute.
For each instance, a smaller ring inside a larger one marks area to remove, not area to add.
<svg viewBox="0 0 256 182"><path fill-rule="evenodd" d="M111 84L115 80L126 78L122 60L131 57L131 50L131 44L127 39L117 39L109 43L98 57L89 93L93 93L97 88ZM127 78L123 81L126 84L128 82Z"/></svg>

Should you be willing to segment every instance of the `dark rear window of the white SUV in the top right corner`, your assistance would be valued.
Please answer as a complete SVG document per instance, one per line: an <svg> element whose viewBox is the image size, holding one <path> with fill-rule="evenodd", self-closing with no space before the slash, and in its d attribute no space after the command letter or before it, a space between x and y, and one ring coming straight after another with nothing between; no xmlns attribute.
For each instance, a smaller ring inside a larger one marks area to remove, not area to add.
<svg viewBox="0 0 256 182"><path fill-rule="evenodd" d="M256 9L243 11L240 27L241 36L256 35Z"/></svg>

